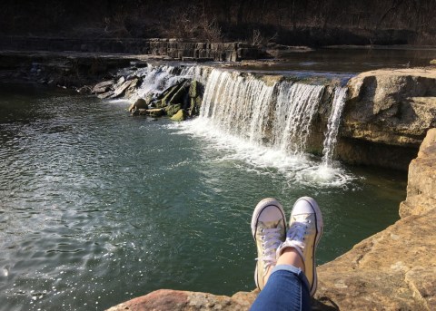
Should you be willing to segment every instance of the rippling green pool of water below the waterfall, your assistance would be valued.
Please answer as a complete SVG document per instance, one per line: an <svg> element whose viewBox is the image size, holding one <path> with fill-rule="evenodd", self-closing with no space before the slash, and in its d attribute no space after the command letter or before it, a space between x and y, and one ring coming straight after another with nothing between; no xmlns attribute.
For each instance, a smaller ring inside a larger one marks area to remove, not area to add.
<svg viewBox="0 0 436 311"><path fill-rule="evenodd" d="M405 174L341 188L256 168L126 102L0 86L0 310L89 310L158 288L252 290L254 206L318 200L323 263L398 219Z"/></svg>

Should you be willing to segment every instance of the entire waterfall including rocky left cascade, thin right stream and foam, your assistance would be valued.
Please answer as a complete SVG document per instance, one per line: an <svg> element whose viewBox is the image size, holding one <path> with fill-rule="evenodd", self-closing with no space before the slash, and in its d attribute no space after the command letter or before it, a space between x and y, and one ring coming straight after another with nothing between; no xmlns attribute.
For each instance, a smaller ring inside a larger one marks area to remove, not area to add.
<svg viewBox="0 0 436 311"><path fill-rule="evenodd" d="M220 149L235 152L226 157L244 160L255 170L276 168L290 180L307 184L341 186L350 180L340 168L332 168L345 88L335 90L320 165L308 156L306 145L326 90L324 85L189 65L149 65L137 69L134 75L143 82L131 95L131 101L156 96L183 79L205 84L200 116L173 126L184 129L181 133L203 136Z"/></svg>

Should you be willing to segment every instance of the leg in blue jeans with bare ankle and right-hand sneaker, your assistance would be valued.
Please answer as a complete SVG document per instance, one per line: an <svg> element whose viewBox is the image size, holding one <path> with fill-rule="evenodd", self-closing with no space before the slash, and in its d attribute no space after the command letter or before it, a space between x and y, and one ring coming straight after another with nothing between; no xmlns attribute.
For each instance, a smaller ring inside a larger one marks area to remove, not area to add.
<svg viewBox="0 0 436 311"><path fill-rule="evenodd" d="M260 287L262 291L251 310L311 310L311 296L317 286L314 254L322 227L316 201L308 197L298 199L286 239L276 250L277 266L266 271L266 285ZM259 250L263 251L258 246Z"/></svg>

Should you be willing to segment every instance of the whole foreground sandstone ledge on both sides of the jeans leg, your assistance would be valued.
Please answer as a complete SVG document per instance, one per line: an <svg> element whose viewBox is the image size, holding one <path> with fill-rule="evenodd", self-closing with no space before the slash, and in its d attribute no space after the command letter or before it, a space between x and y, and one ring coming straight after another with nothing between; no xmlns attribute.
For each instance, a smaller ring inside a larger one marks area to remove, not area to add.
<svg viewBox="0 0 436 311"><path fill-rule="evenodd" d="M318 292L312 300L314 310L436 308L434 163L436 129L431 129L418 157L411 162L401 219L318 267ZM233 296L157 290L109 310L248 310L257 294L257 290Z"/></svg>

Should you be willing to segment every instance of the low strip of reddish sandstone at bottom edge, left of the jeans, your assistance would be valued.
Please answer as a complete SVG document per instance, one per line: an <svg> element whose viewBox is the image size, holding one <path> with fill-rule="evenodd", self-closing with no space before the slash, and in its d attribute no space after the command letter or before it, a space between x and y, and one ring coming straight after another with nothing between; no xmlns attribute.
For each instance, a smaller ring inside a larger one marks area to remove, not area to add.
<svg viewBox="0 0 436 311"><path fill-rule="evenodd" d="M256 296L256 292L239 292L229 297L199 292L160 289L148 295L113 306L107 311L243 311L249 309Z"/></svg>

